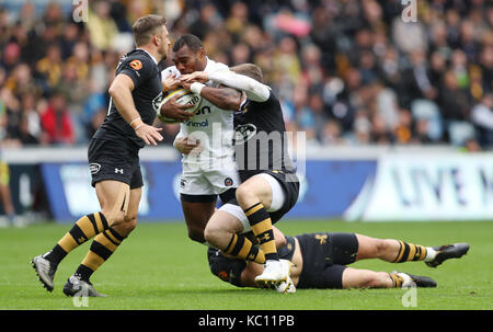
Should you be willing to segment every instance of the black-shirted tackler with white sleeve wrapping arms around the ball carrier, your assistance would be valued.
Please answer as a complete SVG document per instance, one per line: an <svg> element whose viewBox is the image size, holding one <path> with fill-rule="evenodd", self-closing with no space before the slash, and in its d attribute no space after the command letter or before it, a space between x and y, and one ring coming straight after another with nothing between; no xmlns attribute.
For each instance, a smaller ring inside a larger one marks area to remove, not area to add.
<svg viewBox="0 0 493 332"><path fill-rule="evenodd" d="M293 293L296 288L289 278L290 264L279 259L272 227L291 209L299 193L299 181L287 151L283 112L273 91L261 83L262 71L257 66L243 64L231 70L243 75L230 70L196 71L180 78L182 85L191 90L213 80L245 93L243 103L230 99L226 107L240 111L234 113L236 130L240 134L234 148L242 184L236 201L225 204L210 218L205 239L231 256L264 263L265 270L255 278L260 286ZM219 98L222 89L208 88L208 93L217 93ZM179 145L175 147L181 150ZM241 234L249 230L261 250Z"/></svg>

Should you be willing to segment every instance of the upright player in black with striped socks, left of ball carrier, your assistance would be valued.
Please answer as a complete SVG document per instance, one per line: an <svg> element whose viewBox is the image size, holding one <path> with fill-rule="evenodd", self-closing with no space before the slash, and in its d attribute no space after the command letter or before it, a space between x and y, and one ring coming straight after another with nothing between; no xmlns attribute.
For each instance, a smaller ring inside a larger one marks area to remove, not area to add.
<svg viewBox="0 0 493 332"><path fill-rule="evenodd" d="M90 251L64 293L73 296L102 296L89 278L117 249L137 224L142 174L139 150L162 140L152 126L162 100L161 70L170 47L165 19L146 15L134 26L136 48L126 54L116 68L110 87L106 118L92 137L88 157L101 210L80 218L45 254L32 260L44 287L54 289L54 276L60 261L85 241L94 238Z"/></svg>

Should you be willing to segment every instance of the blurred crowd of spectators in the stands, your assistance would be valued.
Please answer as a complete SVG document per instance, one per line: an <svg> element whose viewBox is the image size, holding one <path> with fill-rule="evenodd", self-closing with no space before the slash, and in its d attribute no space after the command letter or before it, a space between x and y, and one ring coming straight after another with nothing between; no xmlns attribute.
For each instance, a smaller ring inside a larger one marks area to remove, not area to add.
<svg viewBox="0 0 493 332"><path fill-rule="evenodd" d="M89 0L82 22L72 1L41 2L0 4L3 146L87 144L148 13L174 38L197 35L214 60L259 65L310 146L493 146L488 0ZM167 125L163 144L177 129Z"/></svg>

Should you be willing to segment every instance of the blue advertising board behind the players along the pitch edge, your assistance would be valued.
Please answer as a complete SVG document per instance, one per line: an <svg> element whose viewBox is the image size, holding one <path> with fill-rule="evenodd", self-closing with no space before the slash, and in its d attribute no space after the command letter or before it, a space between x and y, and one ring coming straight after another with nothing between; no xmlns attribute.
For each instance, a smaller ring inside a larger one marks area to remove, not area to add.
<svg viewBox="0 0 493 332"><path fill-rule="evenodd" d="M286 218L341 217L376 168L374 160L307 161L306 173L298 174L301 180L298 203ZM182 219L180 162L144 161L141 169L145 186L139 219ZM43 163L41 171L57 221L73 222L80 216L100 209L87 163Z"/></svg>

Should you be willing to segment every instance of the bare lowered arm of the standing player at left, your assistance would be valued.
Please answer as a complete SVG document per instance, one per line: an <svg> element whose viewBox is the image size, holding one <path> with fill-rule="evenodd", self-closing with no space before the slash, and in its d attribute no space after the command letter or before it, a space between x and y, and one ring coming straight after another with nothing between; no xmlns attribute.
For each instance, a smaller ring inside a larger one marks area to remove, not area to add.
<svg viewBox="0 0 493 332"><path fill-rule="evenodd" d="M149 126L142 122L140 114L135 107L131 91L134 90L134 81L130 77L119 73L113 80L108 89L112 101L115 103L116 110L122 117L134 128L136 135L141 138L147 145L157 146L158 141L162 140L159 131L162 128Z"/></svg>

